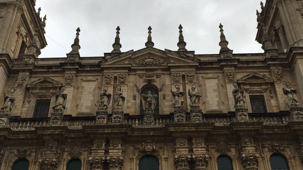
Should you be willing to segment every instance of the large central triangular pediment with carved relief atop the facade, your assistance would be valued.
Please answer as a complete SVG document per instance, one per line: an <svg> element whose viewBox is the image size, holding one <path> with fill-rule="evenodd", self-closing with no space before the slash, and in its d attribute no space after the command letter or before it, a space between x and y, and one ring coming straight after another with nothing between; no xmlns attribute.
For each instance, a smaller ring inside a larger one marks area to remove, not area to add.
<svg viewBox="0 0 303 170"><path fill-rule="evenodd" d="M185 63L185 62L195 62L199 63L199 59L188 56L186 54L178 53L175 51L159 50L153 47L143 48L137 51L128 51L125 53L117 54L109 57L99 64L101 67L113 66L115 64L125 65L129 67L134 66L165 66L169 63Z"/></svg>

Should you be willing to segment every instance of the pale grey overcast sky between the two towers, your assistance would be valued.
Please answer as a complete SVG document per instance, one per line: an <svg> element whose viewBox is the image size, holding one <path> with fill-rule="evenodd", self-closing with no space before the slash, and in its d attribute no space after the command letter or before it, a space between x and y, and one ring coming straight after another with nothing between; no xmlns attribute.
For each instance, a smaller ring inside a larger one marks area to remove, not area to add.
<svg viewBox="0 0 303 170"><path fill-rule="evenodd" d="M155 48L178 50L179 24L187 50L218 54L219 23L233 53L263 52L255 41L258 0L37 0L39 7L48 43L39 57L66 57L77 27L82 57L111 52L117 26L122 52L144 48L148 26Z"/></svg>

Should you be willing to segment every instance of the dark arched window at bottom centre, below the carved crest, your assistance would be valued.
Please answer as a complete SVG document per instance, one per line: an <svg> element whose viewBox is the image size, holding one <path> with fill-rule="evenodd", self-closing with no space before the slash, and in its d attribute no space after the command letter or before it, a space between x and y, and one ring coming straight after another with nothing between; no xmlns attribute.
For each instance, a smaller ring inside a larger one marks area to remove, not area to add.
<svg viewBox="0 0 303 170"><path fill-rule="evenodd" d="M159 170L159 161L151 155L143 156L139 161L139 170Z"/></svg>

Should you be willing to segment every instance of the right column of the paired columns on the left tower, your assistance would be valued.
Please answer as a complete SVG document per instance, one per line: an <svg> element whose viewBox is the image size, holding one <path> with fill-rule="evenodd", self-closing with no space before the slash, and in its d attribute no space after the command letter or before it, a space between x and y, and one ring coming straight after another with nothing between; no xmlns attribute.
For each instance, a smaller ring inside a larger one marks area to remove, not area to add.
<svg viewBox="0 0 303 170"><path fill-rule="evenodd" d="M12 45L13 43L16 41L16 31L18 29L18 24L20 22L20 16L23 13L23 5L19 5L17 8L17 13L15 15L15 19L12 25L12 29L10 31L10 34L8 36L8 41L6 43L6 47L5 47L5 52L10 54L10 56L12 56Z"/></svg>

